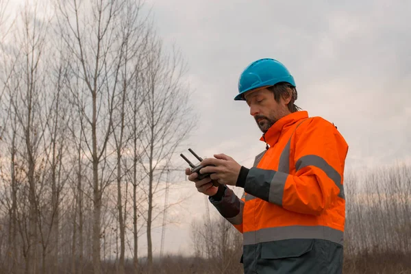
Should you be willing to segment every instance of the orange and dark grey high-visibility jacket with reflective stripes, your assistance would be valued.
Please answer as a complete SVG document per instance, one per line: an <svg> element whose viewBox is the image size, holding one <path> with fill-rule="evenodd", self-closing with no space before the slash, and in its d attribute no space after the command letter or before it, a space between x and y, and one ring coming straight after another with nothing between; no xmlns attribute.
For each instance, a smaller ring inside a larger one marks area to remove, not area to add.
<svg viewBox="0 0 411 274"><path fill-rule="evenodd" d="M279 119L260 140L266 150L238 175L242 198L226 186L209 197L243 234L245 274L342 273L347 142L306 111Z"/></svg>

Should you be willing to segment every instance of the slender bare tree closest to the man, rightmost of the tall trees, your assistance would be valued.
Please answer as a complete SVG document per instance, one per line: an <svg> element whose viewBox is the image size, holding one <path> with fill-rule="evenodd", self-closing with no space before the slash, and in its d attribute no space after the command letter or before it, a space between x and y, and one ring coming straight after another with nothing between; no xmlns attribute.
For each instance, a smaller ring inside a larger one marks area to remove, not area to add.
<svg viewBox="0 0 411 274"><path fill-rule="evenodd" d="M169 55L162 42L153 35L149 40L150 51L145 55L147 69L143 73L147 92L141 116L145 119L142 132L142 158L140 162L148 176L147 253L148 271L153 264L151 227L153 222L153 195L160 186L160 177L170 165L175 149L188 136L190 108L188 90L182 82L184 64L181 56Z"/></svg>

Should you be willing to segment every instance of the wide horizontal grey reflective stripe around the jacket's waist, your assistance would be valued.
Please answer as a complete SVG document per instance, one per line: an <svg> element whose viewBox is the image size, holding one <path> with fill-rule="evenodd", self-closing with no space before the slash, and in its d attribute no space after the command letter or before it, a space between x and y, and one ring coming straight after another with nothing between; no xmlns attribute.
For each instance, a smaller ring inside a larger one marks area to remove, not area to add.
<svg viewBox="0 0 411 274"><path fill-rule="evenodd" d="M269 227L254 232L244 232L244 245L254 245L259 242L287 239L322 239L343 245L344 232L322 225L291 225L286 227Z"/></svg>

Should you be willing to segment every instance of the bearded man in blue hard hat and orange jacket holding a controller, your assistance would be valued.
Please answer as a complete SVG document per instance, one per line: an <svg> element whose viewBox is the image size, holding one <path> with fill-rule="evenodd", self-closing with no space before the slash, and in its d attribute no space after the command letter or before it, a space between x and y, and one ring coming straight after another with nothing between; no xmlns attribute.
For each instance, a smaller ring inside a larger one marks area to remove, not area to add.
<svg viewBox="0 0 411 274"><path fill-rule="evenodd" d="M348 146L332 123L296 105L288 69L273 59L253 62L240 75L235 100L247 101L266 149L251 169L225 154L188 179L243 234L242 262L251 273L342 273ZM213 186L217 180L219 187ZM227 186L244 188L242 198Z"/></svg>

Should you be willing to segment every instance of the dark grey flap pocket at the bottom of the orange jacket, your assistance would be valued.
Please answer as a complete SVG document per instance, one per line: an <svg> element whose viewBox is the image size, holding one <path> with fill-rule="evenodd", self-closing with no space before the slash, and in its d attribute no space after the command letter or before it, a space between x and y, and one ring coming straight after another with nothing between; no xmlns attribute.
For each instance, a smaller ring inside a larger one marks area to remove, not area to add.
<svg viewBox="0 0 411 274"><path fill-rule="evenodd" d="M297 258L312 251L313 239L277 240L261 243L262 259Z"/></svg>

